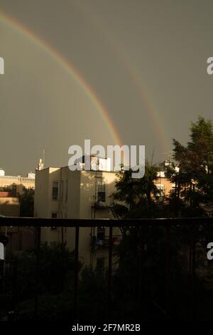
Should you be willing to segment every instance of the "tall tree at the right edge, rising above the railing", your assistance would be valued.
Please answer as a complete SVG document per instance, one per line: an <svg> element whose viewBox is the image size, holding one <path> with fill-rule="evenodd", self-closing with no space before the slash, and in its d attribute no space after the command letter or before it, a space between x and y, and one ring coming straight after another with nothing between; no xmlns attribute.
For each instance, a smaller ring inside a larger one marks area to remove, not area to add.
<svg viewBox="0 0 213 335"><path fill-rule="evenodd" d="M200 215L201 202L213 199L213 128L212 121L198 117L190 127L190 142L186 146L173 139L174 158L180 170L170 171L175 182L175 195L170 202L176 211L185 207L181 215Z"/></svg>

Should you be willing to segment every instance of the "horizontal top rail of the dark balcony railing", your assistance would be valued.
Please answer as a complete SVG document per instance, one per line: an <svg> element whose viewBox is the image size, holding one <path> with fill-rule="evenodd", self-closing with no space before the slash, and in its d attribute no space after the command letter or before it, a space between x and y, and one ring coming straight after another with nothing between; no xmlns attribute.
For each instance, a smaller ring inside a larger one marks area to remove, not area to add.
<svg viewBox="0 0 213 335"><path fill-rule="evenodd" d="M156 219L52 219L38 217L0 217L0 227L144 227L168 225L213 225L213 217Z"/></svg>

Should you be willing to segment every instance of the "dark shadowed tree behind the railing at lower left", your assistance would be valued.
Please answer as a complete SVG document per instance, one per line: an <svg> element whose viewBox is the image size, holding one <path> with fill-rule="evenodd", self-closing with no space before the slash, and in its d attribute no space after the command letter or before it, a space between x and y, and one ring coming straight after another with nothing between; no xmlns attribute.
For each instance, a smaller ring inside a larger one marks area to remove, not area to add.
<svg viewBox="0 0 213 335"><path fill-rule="evenodd" d="M13 259L16 276L16 319L35 317L35 289L38 319L69 319L73 311L75 252L60 243L40 245L39 277L36 277L36 251L28 250ZM79 269L82 264L79 264ZM38 280L38 282L37 282Z"/></svg>

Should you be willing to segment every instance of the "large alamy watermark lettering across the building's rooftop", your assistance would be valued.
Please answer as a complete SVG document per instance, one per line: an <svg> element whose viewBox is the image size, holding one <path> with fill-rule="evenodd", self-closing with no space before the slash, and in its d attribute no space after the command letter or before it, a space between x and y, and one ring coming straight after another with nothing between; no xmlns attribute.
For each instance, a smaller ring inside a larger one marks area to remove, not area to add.
<svg viewBox="0 0 213 335"><path fill-rule="evenodd" d="M68 161L71 171L99 170L99 161L107 157L107 166L101 170L114 172L119 172L121 168L122 170L131 170L132 178L142 178L145 173L145 145L107 145L106 154L103 145L93 145L91 148L90 140L87 139L84 140L84 150L80 145L70 145L68 154L72 155ZM92 164L91 160L94 156L100 158L97 160L96 166Z"/></svg>

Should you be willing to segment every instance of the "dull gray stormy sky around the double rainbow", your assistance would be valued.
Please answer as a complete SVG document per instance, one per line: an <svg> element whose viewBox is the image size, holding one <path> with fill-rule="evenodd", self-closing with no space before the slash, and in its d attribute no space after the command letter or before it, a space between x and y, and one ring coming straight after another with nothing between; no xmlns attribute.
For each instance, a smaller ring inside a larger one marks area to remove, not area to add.
<svg viewBox="0 0 213 335"><path fill-rule="evenodd" d="M68 147L114 144L91 98L22 24L55 48L102 101L124 144L165 159L191 120L212 118L212 0L0 0L1 160L6 174L67 165ZM3 17L2 17L3 15ZM16 24L9 24L10 16Z"/></svg>

